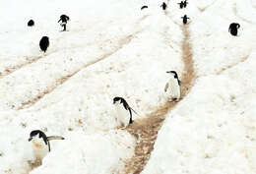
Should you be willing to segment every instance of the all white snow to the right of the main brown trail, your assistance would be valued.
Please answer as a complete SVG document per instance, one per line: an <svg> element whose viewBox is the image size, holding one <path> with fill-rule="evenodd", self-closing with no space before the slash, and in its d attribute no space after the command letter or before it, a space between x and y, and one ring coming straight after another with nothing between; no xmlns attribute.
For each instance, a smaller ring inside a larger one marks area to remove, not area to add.
<svg viewBox="0 0 256 174"><path fill-rule="evenodd" d="M255 1L200 2L184 10L197 79L168 112L143 174L256 173ZM237 37L230 23L241 25Z"/></svg>

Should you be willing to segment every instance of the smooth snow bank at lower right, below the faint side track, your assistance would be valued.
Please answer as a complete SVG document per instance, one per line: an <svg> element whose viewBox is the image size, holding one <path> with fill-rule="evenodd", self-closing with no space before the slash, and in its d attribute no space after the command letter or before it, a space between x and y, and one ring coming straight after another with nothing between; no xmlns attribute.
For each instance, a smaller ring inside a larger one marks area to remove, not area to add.
<svg viewBox="0 0 256 174"><path fill-rule="evenodd" d="M255 173L255 56L196 82L168 114L143 173Z"/></svg>

